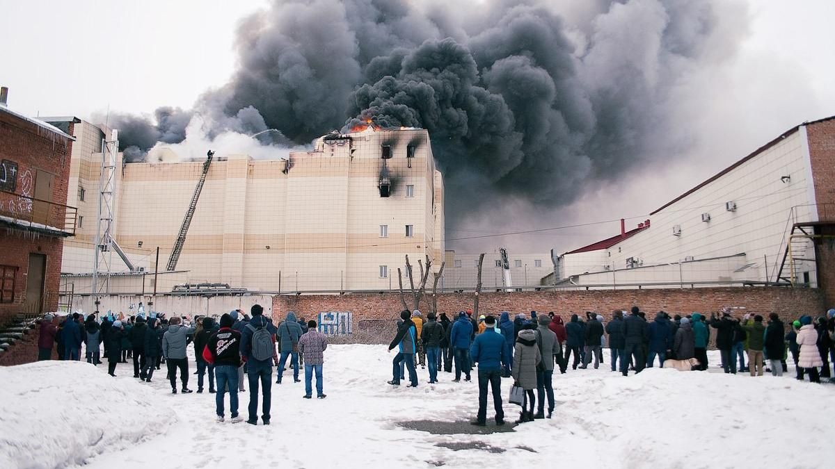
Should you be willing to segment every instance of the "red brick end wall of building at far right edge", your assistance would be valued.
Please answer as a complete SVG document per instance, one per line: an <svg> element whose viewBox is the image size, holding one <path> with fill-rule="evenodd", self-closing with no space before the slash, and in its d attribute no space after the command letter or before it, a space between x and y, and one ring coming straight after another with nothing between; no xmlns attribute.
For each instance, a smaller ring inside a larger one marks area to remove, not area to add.
<svg viewBox="0 0 835 469"><path fill-rule="evenodd" d="M821 221L835 223L835 119L807 126L812 180L815 184L817 214ZM832 228L818 229L818 235L833 235ZM835 251L832 239L816 243L817 280L827 305L835 305Z"/></svg>

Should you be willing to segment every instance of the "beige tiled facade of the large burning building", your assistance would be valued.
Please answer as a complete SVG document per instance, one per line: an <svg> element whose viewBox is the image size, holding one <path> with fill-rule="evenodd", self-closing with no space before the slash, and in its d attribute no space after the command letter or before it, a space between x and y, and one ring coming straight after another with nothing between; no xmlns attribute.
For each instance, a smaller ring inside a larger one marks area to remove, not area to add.
<svg viewBox="0 0 835 469"><path fill-rule="evenodd" d="M73 148L69 193L78 197L83 187L78 206L84 219L62 271L75 274L79 287L90 282L78 274L93 270L100 147L99 142L98 149L93 145L78 155ZM114 238L137 270L147 273L154 272L159 246L163 271L203 163L118 166ZM289 159L216 155L178 274L167 276L254 291L397 289L405 255L415 270L425 256L439 268L443 226L443 178L426 130L329 134ZM114 272L129 271L115 254L106 255L113 256ZM131 285L139 276L133 278Z"/></svg>

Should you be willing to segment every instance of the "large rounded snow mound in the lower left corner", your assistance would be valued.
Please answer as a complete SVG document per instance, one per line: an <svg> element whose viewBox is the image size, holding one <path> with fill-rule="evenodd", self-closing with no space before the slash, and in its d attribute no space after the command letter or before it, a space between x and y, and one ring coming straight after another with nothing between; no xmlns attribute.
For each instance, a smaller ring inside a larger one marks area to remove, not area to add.
<svg viewBox="0 0 835 469"><path fill-rule="evenodd" d="M82 464L164 432L175 421L155 405L159 395L138 380L108 376L106 368L79 361L0 368L0 467Z"/></svg>

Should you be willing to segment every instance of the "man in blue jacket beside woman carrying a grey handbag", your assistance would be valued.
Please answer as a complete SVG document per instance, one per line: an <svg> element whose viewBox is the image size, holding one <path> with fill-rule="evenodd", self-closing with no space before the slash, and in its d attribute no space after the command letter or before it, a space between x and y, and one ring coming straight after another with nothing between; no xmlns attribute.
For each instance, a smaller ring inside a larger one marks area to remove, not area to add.
<svg viewBox="0 0 835 469"><path fill-rule="evenodd" d="M502 313L508 315L508 313ZM510 321L508 320L510 323ZM484 318L487 330L496 325L496 318ZM513 323L510 323L511 327ZM511 332L512 334L512 332ZM511 335L512 336L512 335ZM478 363L478 415L473 425L484 426L487 421L487 384L493 391L493 407L496 409L496 425L504 425L502 410L502 363L506 361L507 344L501 334L479 334L470 347L473 362Z"/></svg>

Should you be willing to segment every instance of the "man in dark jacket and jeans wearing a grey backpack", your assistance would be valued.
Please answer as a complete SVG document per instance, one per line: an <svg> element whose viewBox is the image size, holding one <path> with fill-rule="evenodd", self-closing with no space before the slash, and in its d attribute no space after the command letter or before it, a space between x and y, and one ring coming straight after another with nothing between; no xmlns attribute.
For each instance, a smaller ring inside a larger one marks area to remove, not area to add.
<svg viewBox="0 0 835 469"><path fill-rule="evenodd" d="M250 417L246 423L258 424L258 384L260 382L263 393L261 420L264 421L264 425L270 425L272 357L276 353L276 326L264 317L264 308L261 305L252 305L250 312L252 319L240 335L240 356L246 361L246 375L249 376L250 381ZM264 332L260 332L262 330L266 330L269 337ZM269 347L266 347L267 340L270 342ZM264 350L266 348L269 349L268 352ZM259 357L261 354L263 355Z"/></svg>

